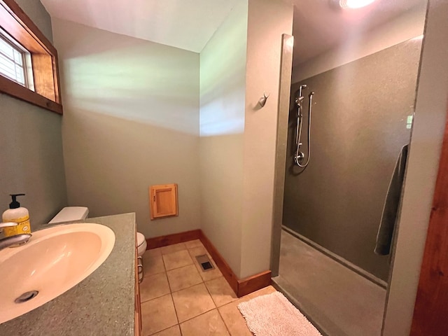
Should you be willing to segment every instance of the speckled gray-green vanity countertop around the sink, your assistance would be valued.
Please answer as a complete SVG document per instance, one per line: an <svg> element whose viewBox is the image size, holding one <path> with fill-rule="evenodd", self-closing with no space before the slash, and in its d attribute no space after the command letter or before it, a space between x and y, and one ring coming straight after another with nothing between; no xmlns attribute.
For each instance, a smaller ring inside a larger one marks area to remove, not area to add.
<svg viewBox="0 0 448 336"><path fill-rule="evenodd" d="M134 335L135 214L87 218L86 223L115 232L111 255L62 295L1 323L0 335Z"/></svg>

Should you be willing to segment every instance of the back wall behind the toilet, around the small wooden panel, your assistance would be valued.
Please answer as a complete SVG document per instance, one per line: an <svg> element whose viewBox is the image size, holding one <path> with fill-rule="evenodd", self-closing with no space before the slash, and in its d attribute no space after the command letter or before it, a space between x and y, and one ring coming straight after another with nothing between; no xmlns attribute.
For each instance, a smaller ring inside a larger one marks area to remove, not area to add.
<svg viewBox="0 0 448 336"><path fill-rule="evenodd" d="M200 228L199 55L52 20L62 72L69 205L135 211L146 237ZM179 217L150 221L148 186L179 184Z"/></svg>

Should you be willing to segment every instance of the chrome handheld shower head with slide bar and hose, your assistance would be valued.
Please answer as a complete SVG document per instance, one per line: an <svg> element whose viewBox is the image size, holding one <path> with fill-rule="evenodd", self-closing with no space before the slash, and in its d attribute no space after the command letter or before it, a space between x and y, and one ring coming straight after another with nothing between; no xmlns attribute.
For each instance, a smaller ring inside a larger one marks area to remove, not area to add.
<svg viewBox="0 0 448 336"><path fill-rule="evenodd" d="M313 104L313 95L314 92L310 92L308 95L308 127L307 127L307 160L304 161L304 153L300 151L300 147L302 144L302 126L303 126L303 102L304 96L302 95L302 91L307 87L306 84L302 84L297 91L295 97L295 105L297 105L297 125L295 127L295 154L294 154L294 163L299 167L307 167L309 164L309 158L311 157L311 109Z"/></svg>

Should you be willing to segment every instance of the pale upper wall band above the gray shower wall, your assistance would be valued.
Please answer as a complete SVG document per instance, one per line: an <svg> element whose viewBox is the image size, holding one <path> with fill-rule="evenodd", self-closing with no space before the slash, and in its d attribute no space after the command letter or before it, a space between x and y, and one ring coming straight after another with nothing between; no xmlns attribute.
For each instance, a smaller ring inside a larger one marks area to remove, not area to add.
<svg viewBox="0 0 448 336"><path fill-rule="evenodd" d="M380 25L365 34L353 34L344 45L318 55L309 61L293 67L292 83L315 76L338 66L353 62L379 50L415 38L423 34L425 25L426 1L398 18ZM300 38L300 36L295 36Z"/></svg>

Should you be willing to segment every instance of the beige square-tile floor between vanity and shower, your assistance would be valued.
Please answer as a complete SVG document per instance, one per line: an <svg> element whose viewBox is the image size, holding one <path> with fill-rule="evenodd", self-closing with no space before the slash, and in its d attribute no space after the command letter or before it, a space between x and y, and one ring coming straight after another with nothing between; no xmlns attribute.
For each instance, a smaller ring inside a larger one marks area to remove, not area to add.
<svg viewBox="0 0 448 336"><path fill-rule="evenodd" d="M238 299L216 266L202 272L195 255L206 253L199 239L146 251L140 283L142 336L253 335L237 305L275 289Z"/></svg>

